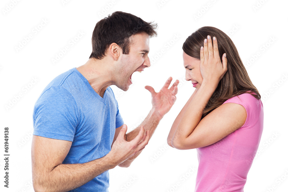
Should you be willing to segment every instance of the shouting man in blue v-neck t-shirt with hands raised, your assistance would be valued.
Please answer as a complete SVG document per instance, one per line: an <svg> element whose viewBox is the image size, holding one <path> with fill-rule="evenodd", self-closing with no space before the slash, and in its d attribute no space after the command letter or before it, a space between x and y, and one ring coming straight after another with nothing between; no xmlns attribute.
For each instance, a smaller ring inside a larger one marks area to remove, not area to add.
<svg viewBox="0 0 288 192"><path fill-rule="evenodd" d="M152 109L142 125L126 134L110 85L127 91L131 76L150 66L149 38L156 24L124 12L100 20L92 54L82 66L62 73L34 106L32 175L35 191L108 191L108 170L128 167L171 109L178 80L160 92L145 86Z"/></svg>

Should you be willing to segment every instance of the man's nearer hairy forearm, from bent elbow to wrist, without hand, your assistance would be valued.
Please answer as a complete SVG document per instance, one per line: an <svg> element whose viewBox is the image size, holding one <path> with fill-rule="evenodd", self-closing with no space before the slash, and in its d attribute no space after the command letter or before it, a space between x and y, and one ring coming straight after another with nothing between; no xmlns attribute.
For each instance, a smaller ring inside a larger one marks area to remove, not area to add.
<svg viewBox="0 0 288 192"><path fill-rule="evenodd" d="M33 174L33 186L36 192L69 191L115 166L117 163L109 157L109 154L83 164L60 164L53 170L42 173L41 176Z"/></svg>

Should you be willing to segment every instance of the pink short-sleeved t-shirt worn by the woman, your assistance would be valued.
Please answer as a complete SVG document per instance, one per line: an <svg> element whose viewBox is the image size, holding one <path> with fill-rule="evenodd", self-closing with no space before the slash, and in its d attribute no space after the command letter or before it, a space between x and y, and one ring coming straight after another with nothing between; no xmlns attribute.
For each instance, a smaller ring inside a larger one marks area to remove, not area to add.
<svg viewBox="0 0 288 192"><path fill-rule="evenodd" d="M263 104L249 93L226 100L245 107L244 125L223 139L197 148L198 172L195 192L244 191L248 171L263 131Z"/></svg>

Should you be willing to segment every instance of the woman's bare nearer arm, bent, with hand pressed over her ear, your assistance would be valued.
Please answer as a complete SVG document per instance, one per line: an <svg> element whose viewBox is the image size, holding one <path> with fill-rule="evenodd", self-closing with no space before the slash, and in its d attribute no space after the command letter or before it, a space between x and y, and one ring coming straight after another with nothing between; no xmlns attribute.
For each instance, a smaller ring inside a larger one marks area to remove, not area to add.
<svg viewBox="0 0 288 192"><path fill-rule="evenodd" d="M208 36L207 39L204 40L204 47L201 47L200 50L200 72L203 81L183 114L171 140L171 145L177 149L193 149L217 142L222 136L228 135L230 131L236 130L243 120L239 115L243 116L242 108L244 107L233 104L232 107L234 111L231 111L231 109L228 109L230 105L224 104L218 107L220 109L219 112L224 114L223 117L221 113L217 113L217 110L213 110L206 115L206 118L204 117L202 119L204 120L203 123L202 121L200 122L203 110L217 88L219 81L227 71L226 54L222 56L222 64L216 38L213 38L214 46L212 45L210 36ZM199 122L203 126L199 126ZM237 125L235 122L238 122Z"/></svg>

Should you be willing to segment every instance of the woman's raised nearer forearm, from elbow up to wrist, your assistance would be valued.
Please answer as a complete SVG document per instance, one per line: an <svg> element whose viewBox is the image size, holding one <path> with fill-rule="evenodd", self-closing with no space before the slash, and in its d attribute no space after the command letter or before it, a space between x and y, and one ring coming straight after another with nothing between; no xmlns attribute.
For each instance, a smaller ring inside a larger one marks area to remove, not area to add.
<svg viewBox="0 0 288 192"><path fill-rule="evenodd" d="M188 105L171 140L173 147L187 145L186 138L194 131L201 120L203 110L217 86L202 82L201 87Z"/></svg>

